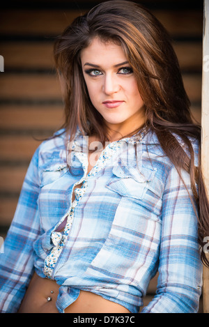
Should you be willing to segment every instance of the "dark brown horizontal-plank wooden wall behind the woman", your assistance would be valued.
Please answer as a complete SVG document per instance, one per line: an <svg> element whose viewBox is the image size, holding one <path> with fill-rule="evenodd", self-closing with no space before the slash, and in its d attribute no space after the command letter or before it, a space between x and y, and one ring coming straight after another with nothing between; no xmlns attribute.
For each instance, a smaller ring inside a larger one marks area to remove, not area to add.
<svg viewBox="0 0 209 327"><path fill-rule="evenodd" d="M7 1L1 5L0 55L0 236L5 238L13 219L31 156L41 139L63 123L63 103L54 71L54 38L102 1ZM144 4L173 38L192 102L201 121L203 1L135 1ZM37 140L38 139L38 140ZM150 282L144 304L155 293L157 276ZM200 310L202 312L202 299Z"/></svg>

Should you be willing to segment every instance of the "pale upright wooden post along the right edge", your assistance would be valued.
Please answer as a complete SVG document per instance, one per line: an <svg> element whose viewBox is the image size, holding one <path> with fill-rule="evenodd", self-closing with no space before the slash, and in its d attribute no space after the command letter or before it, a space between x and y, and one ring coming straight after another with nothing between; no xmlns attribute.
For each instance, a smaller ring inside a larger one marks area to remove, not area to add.
<svg viewBox="0 0 209 327"><path fill-rule="evenodd" d="M209 0L204 0L202 73L201 160L203 166L203 176L209 195ZM207 255L209 256L209 254ZM203 312L209 313L209 268L206 268L206 266L203 267Z"/></svg>

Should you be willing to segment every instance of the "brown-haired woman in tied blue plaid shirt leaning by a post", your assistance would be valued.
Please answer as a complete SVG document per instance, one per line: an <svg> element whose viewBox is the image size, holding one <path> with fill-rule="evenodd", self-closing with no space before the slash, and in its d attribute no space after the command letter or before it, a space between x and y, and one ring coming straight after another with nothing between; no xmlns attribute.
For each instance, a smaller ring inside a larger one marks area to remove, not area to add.
<svg viewBox="0 0 209 327"><path fill-rule="evenodd" d="M1 312L197 312L208 201L169 36L130 1L56 40L65 124L33 155L1 254ZM199 190L199 192L198 192Z"/></svg>

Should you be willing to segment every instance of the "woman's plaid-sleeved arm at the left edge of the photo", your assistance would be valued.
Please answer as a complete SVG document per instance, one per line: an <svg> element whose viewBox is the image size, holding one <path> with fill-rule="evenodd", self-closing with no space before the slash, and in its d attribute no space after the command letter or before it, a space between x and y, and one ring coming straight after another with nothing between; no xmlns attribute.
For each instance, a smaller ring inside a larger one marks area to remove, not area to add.
<svg viewBox="0 0 209 327"><path fill-rule="evenodd" d="M17 312L33 273L33 241L40 232L38 150L26 173L4 252L0 254L0 312Z"/></svg>

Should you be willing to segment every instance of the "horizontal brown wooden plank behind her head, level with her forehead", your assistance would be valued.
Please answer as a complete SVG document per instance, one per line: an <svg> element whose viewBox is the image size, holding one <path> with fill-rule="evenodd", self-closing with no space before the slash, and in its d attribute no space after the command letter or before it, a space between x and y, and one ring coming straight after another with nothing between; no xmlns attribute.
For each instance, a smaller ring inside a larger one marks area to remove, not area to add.
<svg viewBox="0 0 209 327"><path fill-rule="evenodd" d="M6 42L1 43L1 55L5 59L5 67L52 69L54 68L53 42ZM181 69L201 70L202 44L201 42L173 43ZM41 55L40 55L41 54Z"/></svg>

